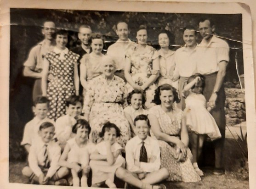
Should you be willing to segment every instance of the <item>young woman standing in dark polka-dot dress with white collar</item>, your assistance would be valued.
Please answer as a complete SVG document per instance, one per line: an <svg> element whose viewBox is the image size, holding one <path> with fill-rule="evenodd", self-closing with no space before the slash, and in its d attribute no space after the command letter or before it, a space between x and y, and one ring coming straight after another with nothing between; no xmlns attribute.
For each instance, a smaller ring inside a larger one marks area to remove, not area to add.
<svg viewBox="0 0 256 189"><path fill-rule="evenodd" d="M56 119L65 115L65 102L71 95L79 95L79 76L77 60L79 55L68 50L68 31L59 30L54 33L56 47L47 53L42 72L42 95L50 100L48 117ZM48 74L53 78L47 83Z"/></svg>

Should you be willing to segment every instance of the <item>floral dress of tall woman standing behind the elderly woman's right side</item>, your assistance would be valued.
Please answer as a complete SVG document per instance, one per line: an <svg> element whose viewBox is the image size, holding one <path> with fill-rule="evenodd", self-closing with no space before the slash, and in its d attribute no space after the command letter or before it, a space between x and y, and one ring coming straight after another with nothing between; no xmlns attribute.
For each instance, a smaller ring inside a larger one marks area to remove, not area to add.
<svg viewBox="0 0 256 189"><path fill-rule="evenodd" d="M151 46L146 46L145 49L138 50L137 46L130 48L127 50L125 55L127 58L131 60L131 78L137 84L142 86L148 78L152 75L152 61L158 58L158 53ZM129 83L126 83L127 94L130 93L133 88ZM156 89L155 84L152 84L145 90L146 94L146 103L145 107L148 109L154 106L151 101L154 98L154 90Z"/></svg>

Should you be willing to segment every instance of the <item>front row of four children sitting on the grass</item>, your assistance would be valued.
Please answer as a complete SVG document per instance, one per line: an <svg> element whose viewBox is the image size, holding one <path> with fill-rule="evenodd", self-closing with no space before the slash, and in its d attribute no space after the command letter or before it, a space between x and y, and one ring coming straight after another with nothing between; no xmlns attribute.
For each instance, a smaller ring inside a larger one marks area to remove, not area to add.
<svg viewBox="0 0 256 189"><path fill-rule="evenodd" d="M120 130L115 124L104 124L100 133L104 140L95 145L88 139L89 123L78 119L72 128L75 137L68 140L61 154L61 147L52 140L55 135L53 123L43 122L38 130L40 139L29 150L29 166L23 168L23 174L40 184L60 185L65 183L65 179L60 178L67 176L71 169L73 185L87 187L87 175L91 169L92 187L105 183L109 188L116 188L116 175L140 189L166 189L164 184L153 185L168 178L169 172L160 169L159 145L157 140L148 136L150 123L146 115L135 118L135 129L137 136L125 146L126 170L121 146L116 142ZM81 180L79 172L82 172Z"/></svg>

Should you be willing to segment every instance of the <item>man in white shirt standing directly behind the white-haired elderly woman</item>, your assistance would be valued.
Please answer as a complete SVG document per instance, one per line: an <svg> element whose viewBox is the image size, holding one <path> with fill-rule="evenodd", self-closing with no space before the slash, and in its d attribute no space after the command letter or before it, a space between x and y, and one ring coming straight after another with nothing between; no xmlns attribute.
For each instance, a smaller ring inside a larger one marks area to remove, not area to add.
<svg viewBox="0 0 256 189"><path fill-rule="evenodd" d="M134 46L135 43L132 42L129 36L130 30L128 25L124 21L119 21L116 24L116 34L119 39L112 45L108 47L107 54L114 57L114 61L117 64L115 75L125 80L125 54L126 50L131 46ZM126 81L126 80L125 80Z"/></svg>

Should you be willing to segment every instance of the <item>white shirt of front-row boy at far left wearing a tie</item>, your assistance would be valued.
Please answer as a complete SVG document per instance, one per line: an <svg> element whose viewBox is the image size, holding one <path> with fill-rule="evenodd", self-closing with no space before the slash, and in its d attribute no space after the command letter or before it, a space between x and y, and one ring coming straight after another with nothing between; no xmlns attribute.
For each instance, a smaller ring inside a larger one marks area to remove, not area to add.
<svg viewBox="0 0 256 189"><path fill-rule="evenodd" d="M28 154L28 163L29 167L32 169L32 171L35 173L37 177L42 174L42 170L39 166L44 166L44 152L45 152L45 145L42 141L42 139L38 140L37 144L33 144L30 148L29 154ZM47 143L47 151L48 151L48 159L50 161L50 168L46 174L46 177L52 177L57 169L58 161L61 156L61 147L57 145L54 141L50 141Z"/></svg>

